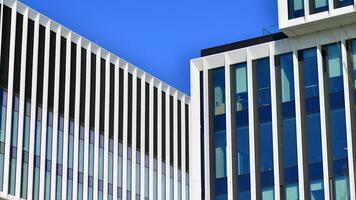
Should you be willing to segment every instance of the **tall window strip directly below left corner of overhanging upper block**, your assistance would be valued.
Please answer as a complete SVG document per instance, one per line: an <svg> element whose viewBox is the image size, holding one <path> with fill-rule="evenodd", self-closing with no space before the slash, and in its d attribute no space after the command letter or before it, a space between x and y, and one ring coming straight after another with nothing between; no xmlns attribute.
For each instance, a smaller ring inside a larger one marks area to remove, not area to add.
<svg viewBox="0 0 356 200"><path fill-rule="evenodd" d="M298 199L298 157L295 121L293 54L276 57L280 82L283 161L286 200Z"/></svg>

